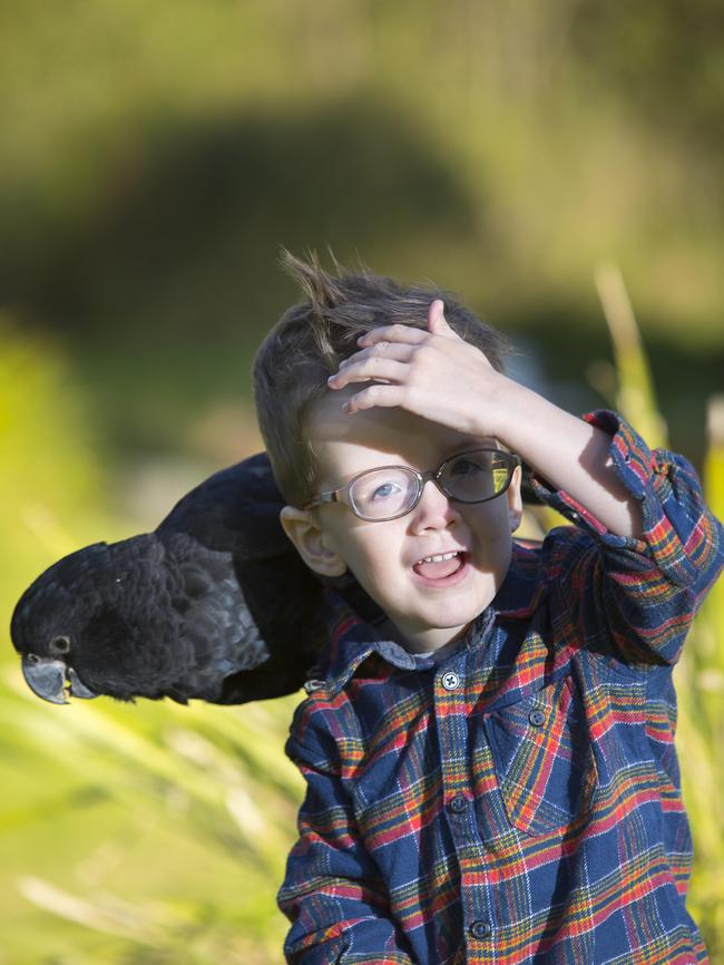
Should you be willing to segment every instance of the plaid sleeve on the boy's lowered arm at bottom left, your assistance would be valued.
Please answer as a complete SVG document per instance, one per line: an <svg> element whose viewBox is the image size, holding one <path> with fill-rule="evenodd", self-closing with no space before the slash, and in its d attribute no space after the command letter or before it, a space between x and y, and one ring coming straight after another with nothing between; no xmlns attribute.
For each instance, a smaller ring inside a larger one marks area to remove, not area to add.
<svg viewBox="0 0 724 965"><path fill-rule="evenodd" d="M333 739L319 731L315 735L314 722L304 712L307 704L297 709L286 744L306 781L299 840L277 896L292 923L284 944L286 961L413 965L407 939L390 917L385 885L356 831L349 792L335 772ZM304 724L297 725L303 718Z"/></svg>

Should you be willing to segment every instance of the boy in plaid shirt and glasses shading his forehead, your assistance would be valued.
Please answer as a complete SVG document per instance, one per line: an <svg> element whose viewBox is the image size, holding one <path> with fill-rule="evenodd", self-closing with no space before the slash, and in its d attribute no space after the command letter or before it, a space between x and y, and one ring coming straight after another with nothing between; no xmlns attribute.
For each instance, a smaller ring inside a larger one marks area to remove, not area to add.
<svg viewBox="0 0 724 965"><path fill-rule="evenodd" d="M282 524L384 614L330 589L287 961L705 962L672 665L723 540L693 470L507 379L451 299L286 264L309 301L254 370ZM518 456L574 524L542 546L512 539Z"/></svg>

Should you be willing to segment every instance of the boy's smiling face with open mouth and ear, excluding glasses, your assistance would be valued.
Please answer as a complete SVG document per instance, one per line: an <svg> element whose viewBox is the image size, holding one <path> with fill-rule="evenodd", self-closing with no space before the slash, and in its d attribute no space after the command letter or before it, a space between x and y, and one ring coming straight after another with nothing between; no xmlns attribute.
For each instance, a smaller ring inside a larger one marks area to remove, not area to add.
<svg viewBox="0 0 724 965"><path fill-rule="evenodd" d="M359 386L327 393L307 421L320 491L365 469L402 465L424 472L458 452L495 446L493 439L451 432L401 409L348 415L342 404L354 391ZM428 482L415 508L398 519L365 522L333 503L304 510L309 528L303 524L296 536L283 522L307 565L329 575L349 567L405 645L423 651L460 636L492 601L508 572L520 511L516 470L507 493L488 503L453 503ZM458 556L449 563L421 565L424 557L453 552Z"/></svg>

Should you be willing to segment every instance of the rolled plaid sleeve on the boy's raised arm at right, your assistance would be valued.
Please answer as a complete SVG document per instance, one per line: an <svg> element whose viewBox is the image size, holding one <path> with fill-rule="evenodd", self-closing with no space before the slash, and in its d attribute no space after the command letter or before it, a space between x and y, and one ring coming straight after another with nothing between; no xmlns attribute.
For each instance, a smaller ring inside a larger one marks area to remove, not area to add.
<svg viewBox="0 0 724 965"><path fill-rule="evenodd" d="M537 495L576 527L552 530L544 544L550 591L587 642L595 643L605 626L627 662L675 663L722 569L722 525L706 508L696 472L683 456L649 450L615 412L584 418L610 435L614 467L640 503L643 532L638 538L609 533L565 490L534 478Z"/></svg>

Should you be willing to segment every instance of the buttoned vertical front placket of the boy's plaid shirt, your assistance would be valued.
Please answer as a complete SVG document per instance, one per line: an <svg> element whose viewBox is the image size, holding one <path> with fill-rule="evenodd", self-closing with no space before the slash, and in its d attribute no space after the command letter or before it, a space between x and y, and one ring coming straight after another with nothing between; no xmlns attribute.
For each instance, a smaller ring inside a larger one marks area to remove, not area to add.
<svg viewBox="0 0 724 965"><path fill-rule="evenodd" d="M434 705L442 759L443 808L460 870L466 962L493 963L495 920L488 895L485 846L473 807L468 748L466 655L437 671Z"/></svg>

